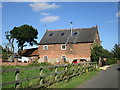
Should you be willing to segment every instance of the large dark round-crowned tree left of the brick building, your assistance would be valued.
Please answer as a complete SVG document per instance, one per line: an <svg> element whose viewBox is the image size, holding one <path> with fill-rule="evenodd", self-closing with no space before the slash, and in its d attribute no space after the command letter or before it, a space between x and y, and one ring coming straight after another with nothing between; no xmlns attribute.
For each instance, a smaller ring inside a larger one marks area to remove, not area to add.
<svg viewBox="0 0 120 90"><path fill-rule="evenodd" d="M29 25L22 25L20 27L14 27L10 31L11 37L17 40L18 50L21 52L23 47L27 46L25 43L29 43L29 45L37 44L37 29L33 28Z"/></svg>

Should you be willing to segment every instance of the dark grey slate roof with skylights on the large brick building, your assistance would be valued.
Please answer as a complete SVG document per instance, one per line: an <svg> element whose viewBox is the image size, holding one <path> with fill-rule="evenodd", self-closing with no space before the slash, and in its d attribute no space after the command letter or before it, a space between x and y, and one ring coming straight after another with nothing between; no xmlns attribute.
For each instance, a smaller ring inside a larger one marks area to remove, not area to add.
<svg viewBox="0 0 120 90"><path fill-rule="evenodd" d="M48 30L41 39L39 45L45 44L68 44L68 43L89 43L94 42L97 27L73 29L70 37L70 29Z"/></svg>

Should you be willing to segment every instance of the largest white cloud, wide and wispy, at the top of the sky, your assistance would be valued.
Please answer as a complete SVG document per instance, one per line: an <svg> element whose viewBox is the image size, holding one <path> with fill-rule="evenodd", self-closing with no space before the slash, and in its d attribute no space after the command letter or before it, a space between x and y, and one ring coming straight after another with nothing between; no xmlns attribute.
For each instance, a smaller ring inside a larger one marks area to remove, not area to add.
<svg viewBox="0 0 120 90"><path fill-rule="evenodd" d="M34 11L43 11L47 9L59 8L59 5L56 5L55 3L49 4L46 2L39 2L39 3L31 3L30 7L32 7Z"/></svg>

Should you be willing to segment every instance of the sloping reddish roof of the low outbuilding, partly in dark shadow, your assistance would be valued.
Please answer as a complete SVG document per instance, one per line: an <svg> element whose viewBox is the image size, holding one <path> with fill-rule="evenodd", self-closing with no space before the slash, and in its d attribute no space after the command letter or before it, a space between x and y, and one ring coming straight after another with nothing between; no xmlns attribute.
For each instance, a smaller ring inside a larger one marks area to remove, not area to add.
<svg viewBox="0 0 120 90"><path fill-rule="evenodd" d="M25 49L22 51L22 56L38 56L38 48Z"/></svg>

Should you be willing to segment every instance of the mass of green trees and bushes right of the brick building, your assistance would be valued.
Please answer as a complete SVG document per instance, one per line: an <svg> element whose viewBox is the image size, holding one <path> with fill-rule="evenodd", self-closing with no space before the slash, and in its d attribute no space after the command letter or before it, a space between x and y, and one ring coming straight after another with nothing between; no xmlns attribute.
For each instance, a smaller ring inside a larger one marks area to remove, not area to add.
<svg viewBox="0 0 120 90"><path fill-rule="evenodd" d="M115 44L111 53L107 49L104 49L101 45L95 43L91 48L91 60L98 61L99 57L101 57L102 59L107 58L108 64L116 63L116 58L120 58L120 48L118 45Z"/></svg>

